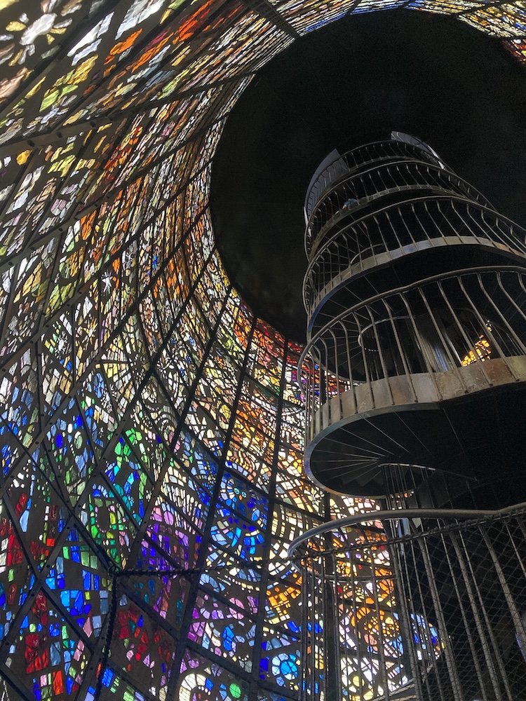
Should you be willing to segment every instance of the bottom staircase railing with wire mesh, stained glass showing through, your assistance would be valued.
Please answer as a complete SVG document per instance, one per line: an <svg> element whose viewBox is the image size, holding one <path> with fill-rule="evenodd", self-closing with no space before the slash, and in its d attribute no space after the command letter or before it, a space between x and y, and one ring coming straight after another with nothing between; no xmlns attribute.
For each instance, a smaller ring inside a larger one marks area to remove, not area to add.
<svg viewBox="0 0 526 701"><path fill-rule="evenodd" d="M403 509L300 536L302 701L524 701L526 504Z"/></svg>

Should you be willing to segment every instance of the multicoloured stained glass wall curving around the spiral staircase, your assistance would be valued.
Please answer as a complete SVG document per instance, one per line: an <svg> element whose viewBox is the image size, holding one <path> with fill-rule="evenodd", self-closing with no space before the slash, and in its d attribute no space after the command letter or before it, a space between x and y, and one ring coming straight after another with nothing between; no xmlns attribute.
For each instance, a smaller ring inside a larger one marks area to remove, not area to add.
<svg viewBox="0 0 526 701"><path fill-rule="evenodd" d="M295 699L288 543L370 503L302 472L299 348L215 249L222 126L344 13L524 3L0 0L1 698Z"/></svg>

